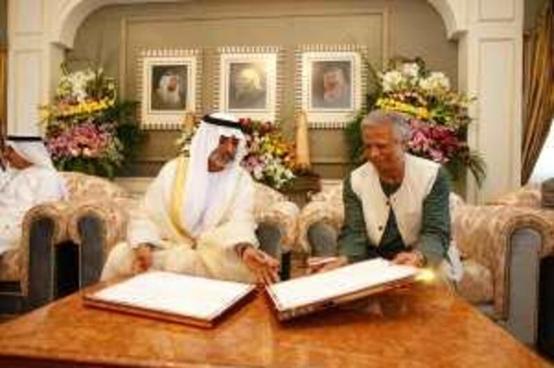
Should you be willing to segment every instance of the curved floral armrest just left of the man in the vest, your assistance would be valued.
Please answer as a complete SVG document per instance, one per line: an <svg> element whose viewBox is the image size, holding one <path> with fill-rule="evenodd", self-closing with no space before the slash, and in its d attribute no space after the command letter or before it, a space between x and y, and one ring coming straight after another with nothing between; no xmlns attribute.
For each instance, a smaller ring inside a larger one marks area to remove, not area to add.
<svg viewBox="0 0 554 368"><path fill-rule="evenodd" d="M317 222L330 225L338 233L344 222L344 207L342 202L313 200L302 209L300 216L298 216L298 244L307 254L312 254L310 241L307 236L308 230Z"/></svg>

